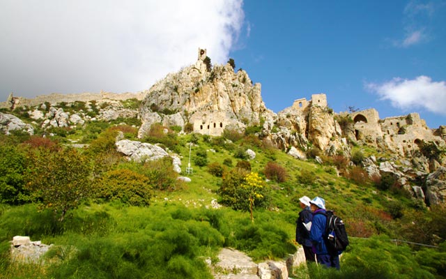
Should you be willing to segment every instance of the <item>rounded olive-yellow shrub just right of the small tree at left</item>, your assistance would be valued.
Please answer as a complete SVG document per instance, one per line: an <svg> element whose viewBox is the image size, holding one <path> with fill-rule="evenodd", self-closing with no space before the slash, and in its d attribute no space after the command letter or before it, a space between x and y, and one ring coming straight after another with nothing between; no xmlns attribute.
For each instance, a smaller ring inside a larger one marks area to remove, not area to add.
<svg viewBox="0 0 446 279"><path fill-rule="evenodd" d="M107 172L98 186L98 197L107 201L118 200L123 204L147 206L152 197L149 179L130 169Z"/></svg>

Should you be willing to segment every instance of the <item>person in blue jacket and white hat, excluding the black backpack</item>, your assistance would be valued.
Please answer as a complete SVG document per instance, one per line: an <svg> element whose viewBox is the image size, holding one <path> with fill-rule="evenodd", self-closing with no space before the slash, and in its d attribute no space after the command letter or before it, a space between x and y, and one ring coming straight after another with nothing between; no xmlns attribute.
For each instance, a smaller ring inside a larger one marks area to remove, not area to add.
<svg viewBox="0 0 446 279"><path fill-rule="evenodd" d="M315 197L309 203L313 212L312 228L309 232L309 239L313 243L313 252L316 254L316 259L319 264L340 269L339 255L330 255L327 246L325 246L324 238L327 237L325 236L325 227L327 225L325 200L321 197Z"/></svg>

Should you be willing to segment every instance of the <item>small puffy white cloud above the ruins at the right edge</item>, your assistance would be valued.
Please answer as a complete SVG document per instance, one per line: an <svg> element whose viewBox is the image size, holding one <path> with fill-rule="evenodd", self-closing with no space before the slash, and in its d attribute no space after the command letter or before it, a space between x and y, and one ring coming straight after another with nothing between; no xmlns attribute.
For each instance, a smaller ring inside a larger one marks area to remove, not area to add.
<svg viewBox="0 0 446 279"><path fill-rule="evenodd" d="M390 100L393 107L402 110L423 107L430 112L446 115L446 82L433 82L431 77L420 75L415 80L394 77L383 84L369 83L365 87Z"/></svg>

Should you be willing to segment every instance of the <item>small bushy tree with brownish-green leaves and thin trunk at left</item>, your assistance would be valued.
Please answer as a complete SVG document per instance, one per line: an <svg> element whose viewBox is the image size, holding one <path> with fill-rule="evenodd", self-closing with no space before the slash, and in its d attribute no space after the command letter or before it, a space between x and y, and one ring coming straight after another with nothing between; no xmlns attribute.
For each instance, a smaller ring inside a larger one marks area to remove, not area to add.
<svg viewBox="0 0 446 279"><path fill-rule="evenodd" d="M92 193L91 164L76 149L31 152L26 177L31 195L59 214L59 221Z"/></svg>

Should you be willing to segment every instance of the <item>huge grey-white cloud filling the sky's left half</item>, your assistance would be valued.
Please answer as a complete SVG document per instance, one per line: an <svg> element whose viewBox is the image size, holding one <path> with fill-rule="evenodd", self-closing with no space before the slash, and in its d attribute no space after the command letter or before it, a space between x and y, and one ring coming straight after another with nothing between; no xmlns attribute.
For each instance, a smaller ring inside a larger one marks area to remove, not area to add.
<svg viewBox="0 0 446 279"><path fill-rule="evenodd" d="M0 95L148 89L194 63L225 63L243 0L3 0ZM2 100L0 100L2 101Z"/></svg>

